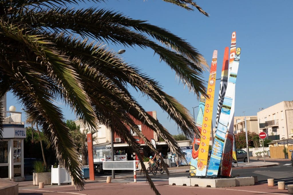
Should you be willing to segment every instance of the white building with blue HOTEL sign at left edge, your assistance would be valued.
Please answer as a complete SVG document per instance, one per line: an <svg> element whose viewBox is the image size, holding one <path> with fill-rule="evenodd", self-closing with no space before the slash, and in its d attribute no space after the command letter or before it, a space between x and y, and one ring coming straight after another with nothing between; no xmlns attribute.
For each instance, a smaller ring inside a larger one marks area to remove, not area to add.
<svg viewBox="0 0 293 195"><path fill-rule="evenodd" d="M21 112L14 106L6 111L6 95L1 100L4 104L3 140L0 140L0 178L13 181L24 180L23 140L26 138Z"/></svg>

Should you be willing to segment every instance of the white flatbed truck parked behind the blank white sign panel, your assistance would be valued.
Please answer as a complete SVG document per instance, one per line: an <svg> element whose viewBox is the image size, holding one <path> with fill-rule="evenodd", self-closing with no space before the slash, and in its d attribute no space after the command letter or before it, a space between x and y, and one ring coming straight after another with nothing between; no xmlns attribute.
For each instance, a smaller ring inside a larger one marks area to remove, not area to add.
<svg viewBox="0 0 293 195"><path fill-rule="evenodd" d="M127 153L121 150L114 150L114 161L127 161ZM101 149L99 147L93 148L93 164L94 170L97 173L103 173L103 162L104 161L112 161L111 150Z"/></svg>

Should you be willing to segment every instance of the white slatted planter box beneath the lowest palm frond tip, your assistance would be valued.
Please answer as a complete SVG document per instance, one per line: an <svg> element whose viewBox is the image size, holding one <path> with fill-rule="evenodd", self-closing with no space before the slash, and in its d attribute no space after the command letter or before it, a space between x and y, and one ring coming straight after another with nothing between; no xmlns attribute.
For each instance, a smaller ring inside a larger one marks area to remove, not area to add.
<svg viewBox="0 0 293 195"><path fill-rule="evenodd" d="M64 184L64 183L71 183L71 177L65 170L65 168L51 168L51 185L52 184Z"/></svg>

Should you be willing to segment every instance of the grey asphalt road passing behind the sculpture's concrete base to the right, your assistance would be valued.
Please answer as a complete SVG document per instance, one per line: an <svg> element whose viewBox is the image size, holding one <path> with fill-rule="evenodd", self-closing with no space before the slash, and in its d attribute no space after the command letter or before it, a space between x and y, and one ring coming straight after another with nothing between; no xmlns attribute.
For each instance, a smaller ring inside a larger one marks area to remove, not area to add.
<svg viewBox="0 0 293 195"><path fill-rule="evenodd" d="M254 161L254 160L251 160ZM280 163L278 166L265 167L265 168L252 168L252 169L232 169L232 175L239 175L240 177L257 176L258 182L267 183L267 179L274 178L275 184L277 182L284 181L286 185L293 184L293 166L291 161L274 161ZM236 164L234 164L236 166ZM107 176L111 176L111 172L105 172L105 174L96 175L96 179L105 180ZM132 171L122 171L115 173L116 178L112 182L133 182ZM164 173L161 175L159 172L156 175L150 174L153 181L168 181L168 175ZM170 177L182 177L188 176L188 172L185 173L171 173ZM139 175L137 172L137 181L146 181L143 175Z"/></svg>

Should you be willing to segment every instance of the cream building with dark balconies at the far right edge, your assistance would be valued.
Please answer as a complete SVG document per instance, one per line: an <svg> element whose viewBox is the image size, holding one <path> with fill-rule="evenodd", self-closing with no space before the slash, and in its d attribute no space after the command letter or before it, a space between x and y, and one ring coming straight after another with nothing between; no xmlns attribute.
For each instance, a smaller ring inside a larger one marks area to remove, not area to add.
<svg viewBox="0 0 293 195"><path fill-rule="evenodd" d="M293 101L282 101L257 113L258 131L265 132L268 139L293 138Z"/></svg>

